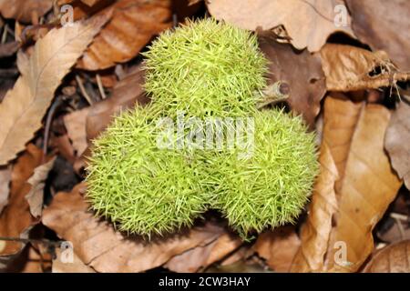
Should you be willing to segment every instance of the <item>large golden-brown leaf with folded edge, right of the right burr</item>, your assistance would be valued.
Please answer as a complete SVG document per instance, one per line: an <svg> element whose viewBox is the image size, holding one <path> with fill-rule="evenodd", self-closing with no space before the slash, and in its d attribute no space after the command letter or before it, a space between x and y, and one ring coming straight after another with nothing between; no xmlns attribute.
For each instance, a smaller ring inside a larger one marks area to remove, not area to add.
<svg viewBox="0 0 410 291"><path fill-rule="evenodd" d="M322 173L292 271L354 272L372 253L374 226L402 185L384 153L389 119L382 105L326 98Z"/></svg>

